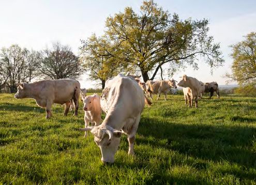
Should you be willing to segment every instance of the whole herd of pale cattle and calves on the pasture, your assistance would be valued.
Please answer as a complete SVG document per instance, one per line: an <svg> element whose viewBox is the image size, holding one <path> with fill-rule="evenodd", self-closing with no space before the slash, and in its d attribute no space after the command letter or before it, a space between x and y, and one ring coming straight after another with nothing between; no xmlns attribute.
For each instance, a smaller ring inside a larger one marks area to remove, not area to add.
<svg viewBox="0 0 256 185"><path fill-rule="evenodd" d="M80 130L85 131L85 137L87 132L91 131L95 143L101 150L101 161L103 163L113 163L122 133L125 133L128 138L128 154L133 155L135 134L139 126L141 113L145 103L151 104L148 98L152 99L152 94L158 94L158 100L160 94L164 94L166 100L170 88L177 89L177 81L173 79L144 83L139 80L139 77L130 73L126 75L118 74L107 80L101 96L97 94L86 96L86 89L81 89L80 83L74 79L20 83L14 97L17 99L35 99L40 107L46 108L46 118L50 118L53 103L66 104L65 116L70 109L70 105L73 105L74 115L78 115L79 97L81 96L84 103L85 128ZM203 92L210 92L210 97L212 97L214 91L216 91L219 98L216 82L202 83L195 78L183 75L177 85L183 87L185 104L188 100L190 107L193 100L195 101L195 107L198 107L198 99L202 98ZM106 113L106 117L101 123L102 111ZM89 127L90 122L91 127Z"/></svg>

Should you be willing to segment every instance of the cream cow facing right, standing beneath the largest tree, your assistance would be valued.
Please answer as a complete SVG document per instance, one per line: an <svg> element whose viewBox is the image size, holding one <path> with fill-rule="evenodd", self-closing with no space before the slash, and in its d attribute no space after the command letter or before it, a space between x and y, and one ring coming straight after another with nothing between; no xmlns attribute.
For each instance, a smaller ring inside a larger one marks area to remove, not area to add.
<svg viewBox="0 0 256 185"><path fill-rule="evenodd" d="M158 93L157 100L159 99L161 93L163 93L164 94L164 100L166 100L167 93L168 93L169 89L171 87L177 88L175 82L176 81L173 80L173 79L172 80L160 80L160 81L148 80L146 82L147 92L149 92L151 99L153 99L152 94L157 94Z"/></svg>

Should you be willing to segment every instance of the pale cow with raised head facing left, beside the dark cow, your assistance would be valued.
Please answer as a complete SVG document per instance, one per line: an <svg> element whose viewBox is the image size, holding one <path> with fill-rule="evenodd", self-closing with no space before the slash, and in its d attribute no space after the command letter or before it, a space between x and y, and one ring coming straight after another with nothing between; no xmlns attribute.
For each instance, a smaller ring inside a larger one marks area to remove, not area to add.
<svg viewBox="0 0 256 185"><path fill-rule="evenodd" d="M184 92L185 104L187 103L187 100L189 100L188 104L189 104L189 107L191 107L193 105L193 99L194 99L195 107L198 107L198 97L201 93L202 83L197 79L184 74L182 76L182 79L179 81L178 86L184 87L183 92Z"/></svg>

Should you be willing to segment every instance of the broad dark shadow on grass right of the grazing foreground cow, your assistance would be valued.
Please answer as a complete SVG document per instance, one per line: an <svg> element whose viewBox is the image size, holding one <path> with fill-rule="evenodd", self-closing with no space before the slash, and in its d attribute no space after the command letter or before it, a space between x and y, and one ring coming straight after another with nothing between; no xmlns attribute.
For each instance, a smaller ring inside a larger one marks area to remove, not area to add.
<svg viewBox="0 0 256 185"><path fill-rule="evenodd" d="M253 119L254 120L254 119ZM137 144L152 145L174 150L195 159L228 161L246 169L256 167L256 155L252 152L252 141L256 135L253 127L216 127L209 125L185 125L163 122L155 118L142 117ZM148 140L148 137L154 140ZM230 172L239 177L255 179L255 173L246 170Z"/></svg>

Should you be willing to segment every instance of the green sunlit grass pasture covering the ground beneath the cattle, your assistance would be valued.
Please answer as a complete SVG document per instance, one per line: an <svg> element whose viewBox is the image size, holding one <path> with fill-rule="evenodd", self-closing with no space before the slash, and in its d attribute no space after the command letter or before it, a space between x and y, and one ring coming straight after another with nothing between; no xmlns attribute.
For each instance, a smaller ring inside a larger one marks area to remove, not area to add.
<svg viewBox="0 0 256 185"><path fill-rule="evenodd" d="M156 97L154 97L156 99ZM134 151L122 136L115 163L84 138L79 116L53 107L45 119L34 100L0 94L0 184L256 184L256 99L202 99L189 109L181 95L145 107Z"/></svg>

